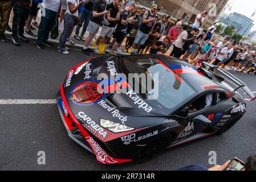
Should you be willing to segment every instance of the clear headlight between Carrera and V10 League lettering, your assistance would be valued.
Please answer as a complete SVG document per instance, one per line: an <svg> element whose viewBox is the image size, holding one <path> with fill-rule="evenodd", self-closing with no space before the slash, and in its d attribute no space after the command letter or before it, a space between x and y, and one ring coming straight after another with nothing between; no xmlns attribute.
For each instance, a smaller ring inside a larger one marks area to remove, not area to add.
<svg viewBox="0 0 256 182"><path fill-rule="evenodd" d="M109 121L107 119L102 119L102 118L100 118L100 126L104 127L107 130L112 131L113 133L121 133L125 131L134 130L133 127L121 125L120 123L115 123L113 121Z"/></svg>

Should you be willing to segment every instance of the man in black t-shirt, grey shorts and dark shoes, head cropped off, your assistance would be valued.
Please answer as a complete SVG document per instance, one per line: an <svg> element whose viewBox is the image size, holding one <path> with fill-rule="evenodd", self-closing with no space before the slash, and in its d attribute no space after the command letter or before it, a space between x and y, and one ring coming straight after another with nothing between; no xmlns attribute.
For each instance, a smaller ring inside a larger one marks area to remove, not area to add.
<svg viewBox="0 0 256 182"><path fill-rule="evenodd" d="M100 28L101 22L104 20L104 15L109 14L110 12L105 10L106 8L106 2L105 0L95 0L94 6L92 7L92 18L90 19L90 22L87 27L87 31L89 32L89 35L86 38L86 41L84 42L84 48L83 52L86 55L90 55L90 52L93 50L89 48L90 43L92 42L92 38L97 34Z"/></svg>

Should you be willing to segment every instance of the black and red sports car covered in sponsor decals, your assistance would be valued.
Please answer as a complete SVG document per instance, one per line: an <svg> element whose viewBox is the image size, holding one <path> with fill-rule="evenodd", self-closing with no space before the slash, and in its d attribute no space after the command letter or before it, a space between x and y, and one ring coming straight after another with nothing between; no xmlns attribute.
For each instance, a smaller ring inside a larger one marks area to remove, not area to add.
<svg viewBox="0 0 256 182"><path fill-rule="evenodd" d="M56 99L68 135L100 163L113 164L147 162L165 148L224 133L246 113L242 96L255 97L214 65L131 55L77 65Z"/></svg>

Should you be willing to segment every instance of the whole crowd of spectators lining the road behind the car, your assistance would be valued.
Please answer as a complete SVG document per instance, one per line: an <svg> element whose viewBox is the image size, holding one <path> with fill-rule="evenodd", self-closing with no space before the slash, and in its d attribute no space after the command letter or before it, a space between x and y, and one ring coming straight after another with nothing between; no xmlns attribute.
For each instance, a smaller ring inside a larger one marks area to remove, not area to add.
<svg viewBox="0 0 256 182"><path fill-rule="evenodd" d="M194 65L208 61L224 69L256 73L253 48L239 42L230 43L226 39L217 41L213 34L219 23L204 29L207 10L187 23L187 17L173 22L170 16L157 15L160 8L155 3L147 10L135 0L0 0L0 6L0 38L7 42L5 30L11 31L11 41L15 46L21 45L20 40L29 42L24 35L27 34L37 38L39 49L52 47L48 37L50 32L51 37L54 36L55 28L62 32L58 51L64 54L70 53L66 43L74 45L73 38L84 42L82 51L86 55L92 52L106 54L107 45L110 55L123 52L166 55L172 50L170 56ZM11 28L9 18L12 9ZM42 10L42 16L37 18L39 10ZM37 19L40 23L36 22ZM37 35L33 32L36 28ZM71 37L73 31L75 34ZM92 42L94 38L96 40ZM89 47L92 43L93 49Z"/></svg>

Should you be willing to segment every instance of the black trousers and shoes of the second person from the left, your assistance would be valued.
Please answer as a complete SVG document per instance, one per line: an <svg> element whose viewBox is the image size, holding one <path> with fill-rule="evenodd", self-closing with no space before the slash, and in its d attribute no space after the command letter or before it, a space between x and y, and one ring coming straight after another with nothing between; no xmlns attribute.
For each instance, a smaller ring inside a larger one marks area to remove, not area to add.
<svg viewBox="0 0 256 182"><path fill-rule="evenodd" d="M13 44L15 46L21 45L19 39L29 42L24 34L24 26L27 18L29 18L30 8L32 7L32 0L14 0L13 1Z"/></svg>

